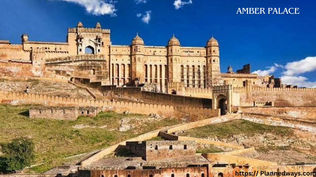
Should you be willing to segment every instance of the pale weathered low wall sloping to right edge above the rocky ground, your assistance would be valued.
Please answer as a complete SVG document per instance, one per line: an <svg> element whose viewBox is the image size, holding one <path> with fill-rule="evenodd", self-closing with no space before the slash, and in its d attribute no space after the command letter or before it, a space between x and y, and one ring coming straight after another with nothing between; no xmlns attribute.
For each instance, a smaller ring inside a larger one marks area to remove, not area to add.
<svg viewBox="0 0 316 177"><path fill-rule="evenodd" d="M298 121L295 120L295 118L273 116L266 114L241 113L241 119L255 123L261 123L272 126L283 126L316 133L316 126L314 123Z"/></svg>

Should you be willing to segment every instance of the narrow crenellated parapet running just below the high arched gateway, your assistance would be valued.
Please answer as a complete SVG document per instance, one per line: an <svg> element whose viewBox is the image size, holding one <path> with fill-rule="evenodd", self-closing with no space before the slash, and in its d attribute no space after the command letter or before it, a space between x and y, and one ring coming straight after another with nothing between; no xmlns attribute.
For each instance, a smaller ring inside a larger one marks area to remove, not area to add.
<svg viewBox="0 0 316 177"><path fill-rule="evenodd" d="M84 54L84 55L73 55L67 57L57 57L46 59L46 64L74 61L74 60L105 60L104 54Z"/></svg>

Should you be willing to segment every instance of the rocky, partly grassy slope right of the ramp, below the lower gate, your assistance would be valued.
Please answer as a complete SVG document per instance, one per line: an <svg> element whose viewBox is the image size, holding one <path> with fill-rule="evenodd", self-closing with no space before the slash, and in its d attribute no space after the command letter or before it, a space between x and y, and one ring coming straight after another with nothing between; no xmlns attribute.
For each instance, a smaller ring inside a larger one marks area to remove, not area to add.
<svg viewBox="0 0 316 177"><path fill-rule="evenodd" d="M245 129L246 127L251 131ZM279 164L316 163L316 134L307 131L233 121L178 132L178 134L255 147L256 152L240 154L239 156L242 157ZM197 148L198 152L230 151L224 147L203 144L198 144Z"/></svg>

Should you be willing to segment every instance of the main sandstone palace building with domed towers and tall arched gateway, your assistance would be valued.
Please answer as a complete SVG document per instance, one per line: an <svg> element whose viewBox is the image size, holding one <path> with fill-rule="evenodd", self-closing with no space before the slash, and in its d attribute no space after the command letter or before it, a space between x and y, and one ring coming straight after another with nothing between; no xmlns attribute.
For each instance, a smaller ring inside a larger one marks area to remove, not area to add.
<svg viewBox="0 0 316 177"><path fill-rule="evenodd" d="M30 41L27 34L21 36L21 42L0 41L0 62L4 63L1 72L41 77L81 76L91 82L117 86L155 83L157 91L173 94L181 94L182 88L223 84L240 87L246 80L264 87L269 85L262 84L258 75L250 74L249 65L237 73L232 69L221 73L219 43L214 37L203 47L181 46L174 35L166 46L148 46L138 34L128 45L112 45L109 29L102 29L100 23L85 28L79 22L76 27L68 28L65 43ZM13 66L20 66L21 72L10 68Z"/></svg>

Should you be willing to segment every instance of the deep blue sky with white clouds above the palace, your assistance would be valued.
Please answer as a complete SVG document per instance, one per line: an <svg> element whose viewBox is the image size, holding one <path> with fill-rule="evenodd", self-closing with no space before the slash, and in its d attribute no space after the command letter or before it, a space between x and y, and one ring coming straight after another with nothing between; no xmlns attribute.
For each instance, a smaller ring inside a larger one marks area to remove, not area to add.
<svg viewBox="0 0 316 177"><path fill-rule="evenodd" d="M138 32L146 45L166 45L174 33L182 46L205 46L214 35L222 72L250 63L258 74L316 87L315 7L314 0L1 0L0 39L21 43L27 33L30 40L63 42L79 20L111 29L112 44L130 44ZM266 14L236 14L238 8ZM300 14L267 14L268 8Z"/></svg>

